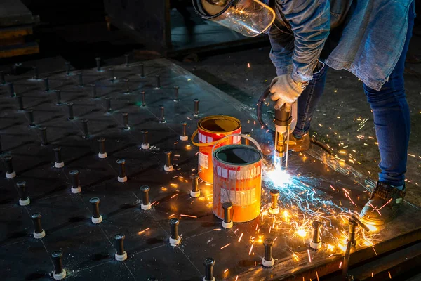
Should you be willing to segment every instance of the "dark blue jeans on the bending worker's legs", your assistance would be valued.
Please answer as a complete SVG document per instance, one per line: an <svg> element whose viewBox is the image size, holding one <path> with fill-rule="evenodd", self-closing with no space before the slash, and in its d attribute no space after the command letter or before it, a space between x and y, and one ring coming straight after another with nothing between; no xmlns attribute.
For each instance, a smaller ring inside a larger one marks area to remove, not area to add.
<svg viewBox="0 0 421 281"><path fill-rule="evenodd" d="M403 185L406 173L410 117L403 84L403 70L414 18L411 5L405 46L389 80L380 91L364 85L364 92L373 110L375 133L380 150L379 180L394 186ZM323 93L327 68L325 65L314 74L313 80L298 98L297 126L293 132L295 136L300 137L309 131L314 110Z"/></svg>

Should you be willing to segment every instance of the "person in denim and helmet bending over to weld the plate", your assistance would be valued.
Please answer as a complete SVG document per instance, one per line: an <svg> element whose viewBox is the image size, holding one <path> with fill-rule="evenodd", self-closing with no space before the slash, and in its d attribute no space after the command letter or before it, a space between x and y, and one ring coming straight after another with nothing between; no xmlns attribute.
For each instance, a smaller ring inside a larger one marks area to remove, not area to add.
<svg viewBox="0 0 421 281"><path fill-rule="evenodd" d="M277 75L270 87L275 110L288 112L298 100L290 150L309 148L309 127L328 67L348 70L361 79L373 111L381 171L360 216L373 225L394 218L406 193L410 116L403 70L415 2L193 0L193 4L203 18L243 35L269 34Z"/></svg>

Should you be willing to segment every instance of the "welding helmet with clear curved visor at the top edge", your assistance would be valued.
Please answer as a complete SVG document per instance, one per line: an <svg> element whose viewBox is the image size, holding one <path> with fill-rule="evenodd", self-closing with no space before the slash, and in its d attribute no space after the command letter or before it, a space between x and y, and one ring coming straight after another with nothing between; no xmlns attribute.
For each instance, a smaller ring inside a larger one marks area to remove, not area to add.
<svg viewBox="0 0 421 281"><path fill-rule="evenodd" d="M247 37L265 32L275 20L275 12L258 0L193 0L202 18L212 20Z"/></svg>

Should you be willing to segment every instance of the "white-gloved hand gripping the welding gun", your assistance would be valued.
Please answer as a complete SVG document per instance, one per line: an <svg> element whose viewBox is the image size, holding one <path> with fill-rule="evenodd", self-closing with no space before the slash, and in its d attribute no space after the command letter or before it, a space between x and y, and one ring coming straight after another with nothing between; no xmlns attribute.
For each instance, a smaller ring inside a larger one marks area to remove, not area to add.
<svg viewBox="0 0 421 281"><path fill-rule="evenodd" d="M298 99L304 89L295 83L290 74L275 77L270 84L271 100L276 101L275 110L285 104L286 112L290 112L291 105Z"/></svg>

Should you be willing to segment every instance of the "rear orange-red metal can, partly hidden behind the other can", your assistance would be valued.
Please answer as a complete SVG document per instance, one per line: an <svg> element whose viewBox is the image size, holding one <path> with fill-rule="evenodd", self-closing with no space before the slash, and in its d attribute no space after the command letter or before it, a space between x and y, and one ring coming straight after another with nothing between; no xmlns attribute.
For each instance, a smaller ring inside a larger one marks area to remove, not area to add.
<svg viewBox="0 0 421 281"><path fill-rule="evenodd" d="M192 135L192 143L199 147L199 177L206 183L213 183L212 148L215 143L225 136L241 133L241 122L239 119L224 115L204 117L197 122L197 130ZM198 135L199 143L194 141ZM241 138L234 136L225 138L216 146L232 143L239 143Z"/></svg>

